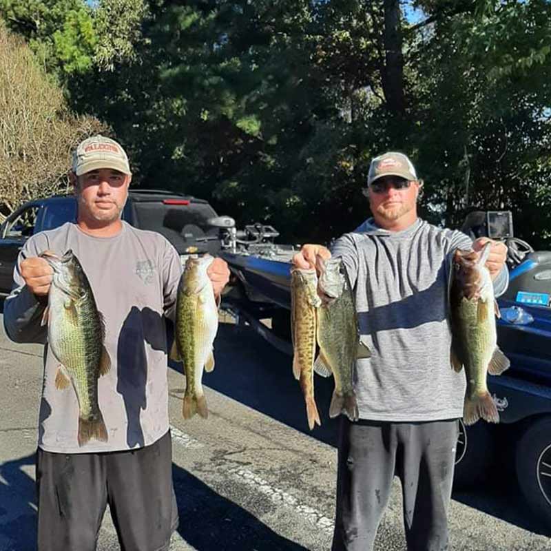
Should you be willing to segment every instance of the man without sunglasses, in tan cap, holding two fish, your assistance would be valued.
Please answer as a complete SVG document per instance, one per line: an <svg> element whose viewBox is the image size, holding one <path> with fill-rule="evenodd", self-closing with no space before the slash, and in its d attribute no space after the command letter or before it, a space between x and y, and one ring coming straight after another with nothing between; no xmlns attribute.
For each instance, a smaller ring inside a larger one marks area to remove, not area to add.
<svg viewBox="0 0 551 551"><path fill-rule="evenodd" d="M103 344L111 368L98 380L105 430L87 440L76 394L56 388L59 362L47 348L37 450L38 549L95 550L109 503L121 548L167 550L178 511L165 318L174 320L180 257L159 233L121 220L132 174L116 141L104 136L83 141L74 152L71 177L76 224L37 233L25 243L4 324L16 342L47 344L41 319L52 268L39 254L61 256L72 249L105 320ZM149 277L143 277L144 267ZM227 264L215 259L208 273L220 295L229 278Z"/></svg>

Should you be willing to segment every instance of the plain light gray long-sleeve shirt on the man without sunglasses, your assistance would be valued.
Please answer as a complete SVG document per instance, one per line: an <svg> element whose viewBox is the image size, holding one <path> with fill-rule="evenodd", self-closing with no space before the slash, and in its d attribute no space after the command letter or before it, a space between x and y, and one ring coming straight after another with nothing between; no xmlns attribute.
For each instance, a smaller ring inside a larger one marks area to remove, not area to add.
<svg viewBox="0 0 551 551"><path fill-rule="evenodd" d="M79 258L105 318L111 369L98 380L108 441L91 440L79 447L76 393L72 386L63 391L55 387L59 363L47 347L39 446L57 453L83 453L153 444L169 428L165 318L174 320L182 272L178 253L159 233L126 222L110 238L90 236L71 223L37 233L19 254L16 287L4 304L6 333L16 342L48 341L48 328L40 324L45 304L25 286L19 271L24 258L46 249L58 254L72 249Z"/></svg>

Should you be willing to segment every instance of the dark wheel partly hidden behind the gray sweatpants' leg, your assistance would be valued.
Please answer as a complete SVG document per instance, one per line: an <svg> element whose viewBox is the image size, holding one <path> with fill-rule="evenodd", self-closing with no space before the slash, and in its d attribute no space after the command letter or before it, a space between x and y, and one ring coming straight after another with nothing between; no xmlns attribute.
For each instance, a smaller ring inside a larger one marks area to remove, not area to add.
<svg viewBox="0 0 551 551"><path fill-rule="evenodd" d="M479 421L466 427L459 419L453 488L461 490L479 482L492 463L494 449L495 439L488 423Z"/></svg>

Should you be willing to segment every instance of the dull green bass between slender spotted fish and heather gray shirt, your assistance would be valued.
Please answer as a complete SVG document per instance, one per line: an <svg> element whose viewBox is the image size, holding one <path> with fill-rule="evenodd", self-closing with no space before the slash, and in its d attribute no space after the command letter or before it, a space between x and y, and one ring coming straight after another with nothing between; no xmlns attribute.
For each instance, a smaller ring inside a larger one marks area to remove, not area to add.
<svg viewBox="0 0 551 551"><path fill-rule="evenodd" d="M329 417L344 413L351 421L357 421L356 360L371 357L371 351L360 341L353 291L342 260L324 260L318 255L316 266L320 273L318 289L323 299L317 311L320 354L314 369L319 375L329 377L332 374L335 379Z"/></svg>

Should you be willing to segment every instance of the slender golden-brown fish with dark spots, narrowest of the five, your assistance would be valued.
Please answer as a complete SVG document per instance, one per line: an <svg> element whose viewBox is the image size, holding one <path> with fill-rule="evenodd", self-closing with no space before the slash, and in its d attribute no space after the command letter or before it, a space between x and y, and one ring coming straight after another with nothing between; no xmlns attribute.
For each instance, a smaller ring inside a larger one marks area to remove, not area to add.
<svg viewBox="0 0 551 551"><path fill-rule="evenodd" d="M300 382L310 430L321 425L314 399L315 309L321 304L315 269L291 270L291 337L293 375Z"/></svg>

